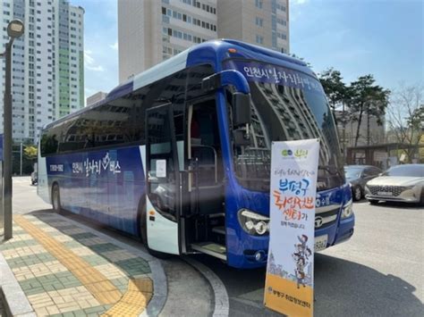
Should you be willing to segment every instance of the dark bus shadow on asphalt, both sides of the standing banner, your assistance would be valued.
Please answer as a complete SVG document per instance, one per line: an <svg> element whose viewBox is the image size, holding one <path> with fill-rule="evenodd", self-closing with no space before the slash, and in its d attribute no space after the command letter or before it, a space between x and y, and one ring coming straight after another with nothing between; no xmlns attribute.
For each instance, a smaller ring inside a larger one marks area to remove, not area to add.
<svg viewBox="0 0 424 317"><path fill-rule="evenodd" d="M207 264L225 283L230 315L277 315L262 304L265 268L236 270L207 256L196 259ZM394 275L315 254L316 316L421 316L423 304L412 294L414 291L416 288Z"/></svg>

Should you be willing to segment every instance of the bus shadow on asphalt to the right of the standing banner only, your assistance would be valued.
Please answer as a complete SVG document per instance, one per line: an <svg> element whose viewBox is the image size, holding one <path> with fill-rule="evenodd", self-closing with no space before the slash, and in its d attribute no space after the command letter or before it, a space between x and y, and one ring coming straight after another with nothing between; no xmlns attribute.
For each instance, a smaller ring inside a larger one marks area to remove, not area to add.
<svg viewBox="0 0 424 317"><path fill-rule="evenodd" d="M421 316L416 288L391 274L333 256L315 256L318 316Z"/></svg>

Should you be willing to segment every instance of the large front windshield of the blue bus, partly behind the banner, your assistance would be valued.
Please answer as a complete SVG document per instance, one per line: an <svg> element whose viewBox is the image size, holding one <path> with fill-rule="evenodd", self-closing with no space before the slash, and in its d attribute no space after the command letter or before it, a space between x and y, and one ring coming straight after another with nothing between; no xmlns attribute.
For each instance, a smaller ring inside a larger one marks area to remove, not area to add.
<svg viewBox="0 0 424 317"><path fill-rule="evenodd" d="M269 190L271 142L320 139L318 191L344 183L335 121L317 79L282 66L229 60L251 94L250 145L234 146L236 177L245 188Z"/></svg>

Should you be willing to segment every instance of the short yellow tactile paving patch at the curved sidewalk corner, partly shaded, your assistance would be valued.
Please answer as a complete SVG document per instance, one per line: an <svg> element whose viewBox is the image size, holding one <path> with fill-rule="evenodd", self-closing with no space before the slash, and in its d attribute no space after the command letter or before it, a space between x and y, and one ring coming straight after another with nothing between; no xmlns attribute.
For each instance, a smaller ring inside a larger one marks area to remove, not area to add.
<svg viewBox="0 0 424 317"><path fill-rule="evenodd" d="M130 279L121 300L101 316L138 316L146 308L152 293L151 279Z"/></svg>

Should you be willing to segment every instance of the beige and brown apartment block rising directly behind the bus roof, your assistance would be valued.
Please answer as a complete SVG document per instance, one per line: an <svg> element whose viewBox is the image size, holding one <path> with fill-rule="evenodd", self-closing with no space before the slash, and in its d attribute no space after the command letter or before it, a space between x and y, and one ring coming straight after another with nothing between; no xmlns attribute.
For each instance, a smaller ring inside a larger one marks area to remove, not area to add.
<svg viewBox="0 0 424 317"><path fill-rule="evenodd" d="M288 21L288 0L119 0L119 81L213 38L287 53Z"/></svg>

